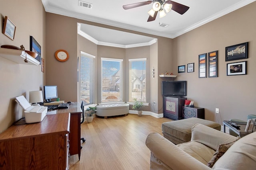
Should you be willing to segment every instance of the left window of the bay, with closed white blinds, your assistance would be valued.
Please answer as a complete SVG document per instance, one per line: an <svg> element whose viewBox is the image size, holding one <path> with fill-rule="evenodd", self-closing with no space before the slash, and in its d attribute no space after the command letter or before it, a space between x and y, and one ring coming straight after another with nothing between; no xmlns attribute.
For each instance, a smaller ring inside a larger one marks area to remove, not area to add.
<svg viewBox="0 0 256 170"><path fill-rule="evenodd" d="M95 104L95 56L81 51L80 99L84 105Z"/></svg>

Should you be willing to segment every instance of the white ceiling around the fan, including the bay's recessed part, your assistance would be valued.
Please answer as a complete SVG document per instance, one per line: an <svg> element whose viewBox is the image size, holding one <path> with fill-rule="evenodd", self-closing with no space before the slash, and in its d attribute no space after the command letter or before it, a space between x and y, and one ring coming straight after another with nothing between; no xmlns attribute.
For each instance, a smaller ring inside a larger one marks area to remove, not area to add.
<svg viewBox="0 0 256 170"><path fill-rule="evenodd" d="M183 15L171 10L164 18L159 18L158 14L156 20L151 22L147 22L147 20L152 3L129 10L122 8L123 5L146 0L82 0L82 2L92 4L91 9L79 6L78 1L80 0L42 0L42 3L46 12L161 37L175 38L256 0L175 0L175 2L189 6L189 10ZM162 23L169 26L160 27L159 24ZM154 39L87 24L81 24L80 30L98 43L130 45Z"/></svg>

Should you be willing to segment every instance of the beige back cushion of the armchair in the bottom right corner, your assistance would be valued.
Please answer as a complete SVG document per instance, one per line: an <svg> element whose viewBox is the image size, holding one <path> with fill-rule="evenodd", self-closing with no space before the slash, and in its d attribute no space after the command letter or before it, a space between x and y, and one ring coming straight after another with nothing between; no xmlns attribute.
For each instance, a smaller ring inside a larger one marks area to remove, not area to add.
<svg viewBox="0 0 256 170"><path fill-rule="evenodd" d="M236 141L214 164L215 170L253 170L256 167L256 132Z"/></svg>

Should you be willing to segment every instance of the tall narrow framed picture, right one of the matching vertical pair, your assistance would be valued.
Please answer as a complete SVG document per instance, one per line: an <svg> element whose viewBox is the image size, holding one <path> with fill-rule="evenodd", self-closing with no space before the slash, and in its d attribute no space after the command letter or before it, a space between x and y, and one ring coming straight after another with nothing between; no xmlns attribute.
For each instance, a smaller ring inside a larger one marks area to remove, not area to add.
<svg viewBox="0 0 256 170"><path fill-rule="evenodd" d="M208 53L208 77L218 77L218 51Z"/></svg>

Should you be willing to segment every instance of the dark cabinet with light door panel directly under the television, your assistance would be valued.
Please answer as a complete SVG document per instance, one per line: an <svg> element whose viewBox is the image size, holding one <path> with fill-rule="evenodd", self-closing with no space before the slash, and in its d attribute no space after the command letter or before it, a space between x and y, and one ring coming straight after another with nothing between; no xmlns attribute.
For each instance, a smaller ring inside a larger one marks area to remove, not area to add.
<svg viewBox="0 0 256 170"><path fill-rule="evenodd" d="M174 120L182 119L182 106L185 104L184 97L165 96L164 97L164 117Z"/></svg>

